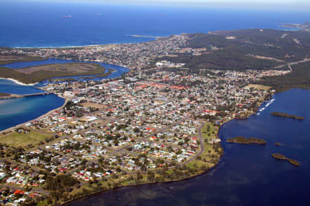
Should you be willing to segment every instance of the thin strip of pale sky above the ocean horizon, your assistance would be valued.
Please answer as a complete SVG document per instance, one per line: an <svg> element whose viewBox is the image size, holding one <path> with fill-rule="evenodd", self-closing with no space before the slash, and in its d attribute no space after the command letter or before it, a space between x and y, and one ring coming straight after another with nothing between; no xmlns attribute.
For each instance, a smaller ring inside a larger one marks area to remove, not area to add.
<svg viewBox="0 0 310 206"><path fill-rule="evenodd" d="M1 0L0 0L1 1ZM6 0L4 0L6 1ZM9 0L7 0L9 1ZM10 0L12 1L12 0ZM62 3L110 3L156 6L191 6L221 8L261 8L267 10L310 10L310 0L15 0Z"/></svg>

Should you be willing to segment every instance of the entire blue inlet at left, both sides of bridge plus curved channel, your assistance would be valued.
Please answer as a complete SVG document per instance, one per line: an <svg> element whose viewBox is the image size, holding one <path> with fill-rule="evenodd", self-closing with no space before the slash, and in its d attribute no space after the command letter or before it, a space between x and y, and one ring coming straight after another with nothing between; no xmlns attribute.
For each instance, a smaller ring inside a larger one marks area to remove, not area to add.
<svg viewBox="0 0 310 206"><path fill-rule="evenodd" d="M12 69L18 69L36 65L72 63L72 62L87 62L87 61L48 59L45 61L11 63L2 66ZM87 63L94 63L94 62L87 62ZM115 72L112 72L112 74L104 78L95 78L94 80L112 79L121 76L121 74L123 74L124 72L129 71L129 69L117 65L111 65L108 63L99 63L99 64L106 69L111 68L115 70ZM107 71L108 70L106 70L106 72ZM79 77L81 76L72 76L72 77L70 76L70 78L74 79L78 79ZM43 81L37 84L36 86L37 87L43 86L45 85L45 83L47 83L47 81ZM43 92L37 87L18 85L17 83L14 83L13 81L10 81L8 79L0 79L0 92L3 93L32 94ZM37 117L49 112L50 110L54 110L55 108L60 107L61 105L63 105L64 101L65 101L64 99L61 99L59 96L56 95L31 96L21 99L0 100L0 131L5 130L9 127L13 127L15 125L19 125L20 123L36 119Z"/></svg>

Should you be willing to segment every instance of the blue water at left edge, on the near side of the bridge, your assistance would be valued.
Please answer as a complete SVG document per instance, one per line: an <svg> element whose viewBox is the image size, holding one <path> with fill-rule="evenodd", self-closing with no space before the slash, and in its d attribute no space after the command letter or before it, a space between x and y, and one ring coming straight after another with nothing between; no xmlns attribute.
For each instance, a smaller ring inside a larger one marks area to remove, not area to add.
<svg viewBox="0 0 310 206"><path fill-rule="evenodd" d="M55 94L0 100L0 131L36 119L64 102Z"/></svg>

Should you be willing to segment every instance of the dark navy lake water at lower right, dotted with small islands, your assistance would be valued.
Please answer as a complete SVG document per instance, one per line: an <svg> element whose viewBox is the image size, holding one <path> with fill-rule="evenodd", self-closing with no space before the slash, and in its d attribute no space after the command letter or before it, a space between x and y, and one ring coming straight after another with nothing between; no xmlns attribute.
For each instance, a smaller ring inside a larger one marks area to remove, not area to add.
<svg viewBox="0 0 310 206"><path fill-rule="evenodd" d="M178 183L124 187L71 205L309 205L310 90L293 89L273 98L276 101L259 116L221 127L225 154L209 174ZM274 111L305 120L271 116ZM240 135L264 138L267 145L225 142ZM272 158L274 152L296 159L300 167Z"/></svg>

